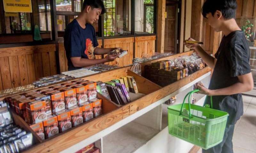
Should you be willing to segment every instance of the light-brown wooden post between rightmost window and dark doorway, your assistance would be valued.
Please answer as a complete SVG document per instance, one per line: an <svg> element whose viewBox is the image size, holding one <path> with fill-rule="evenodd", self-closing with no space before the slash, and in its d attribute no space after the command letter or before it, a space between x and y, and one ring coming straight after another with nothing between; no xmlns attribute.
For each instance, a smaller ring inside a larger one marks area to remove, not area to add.
<svg viewBox="0 0 256 153"><path fill-rule="evenodd" d="M158 0L157 52L164 53L165 0Z"/></svg>

